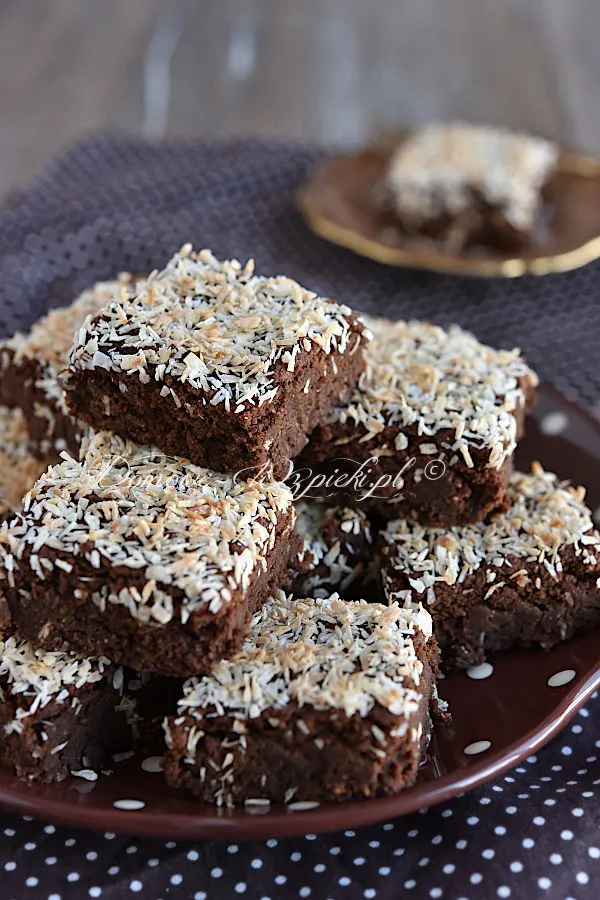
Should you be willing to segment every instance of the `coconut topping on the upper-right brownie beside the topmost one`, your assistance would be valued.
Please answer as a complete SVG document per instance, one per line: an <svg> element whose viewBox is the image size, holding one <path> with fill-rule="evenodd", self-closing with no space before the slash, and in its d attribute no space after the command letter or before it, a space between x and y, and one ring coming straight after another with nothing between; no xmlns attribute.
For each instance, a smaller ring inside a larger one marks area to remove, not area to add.
<svg viewBox="0 0 600 900"><path fill-rule="evenodd" d="M456 325L391 322L363 316L373 339L366 368L346 405L330 421L361 425L361 441L376 441L386 426L416 427L426 437L454 432L449 450L490 451L500 468L516 447L516 411L525 404L520 379L537 384L519 350L494 350ZM397 444L398 445L398 444ZM468 458L468 457L466 457Z"/></svg>

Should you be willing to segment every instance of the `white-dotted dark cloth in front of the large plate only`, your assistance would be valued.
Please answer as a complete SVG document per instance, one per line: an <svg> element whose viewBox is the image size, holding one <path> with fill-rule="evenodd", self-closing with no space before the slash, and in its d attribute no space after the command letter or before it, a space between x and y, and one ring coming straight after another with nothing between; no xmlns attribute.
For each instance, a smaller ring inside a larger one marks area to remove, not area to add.
<svg viewBox="0 0 600 900"><path fill-rule="evenodd" d="M559 739L497 781L356 831L183 844L0 814L1 896L596 900L599 757L595 696Z"/></svg>

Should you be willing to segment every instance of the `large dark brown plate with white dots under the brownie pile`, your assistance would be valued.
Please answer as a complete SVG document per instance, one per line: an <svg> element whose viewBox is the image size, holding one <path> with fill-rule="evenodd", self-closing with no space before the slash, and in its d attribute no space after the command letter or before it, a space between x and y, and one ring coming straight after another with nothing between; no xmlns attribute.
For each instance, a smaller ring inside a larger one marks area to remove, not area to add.
<svg viewBox="0 0 600 900"><path fill-rule="evenodd" d="M521 468L534 459L563 478L587 484L592 508L600 506L600 425L548 387L540 391L519 448ZM394 797L294 812L272 807L261 815L219 811L167 788L160 773L143 771L141 758L134 758L95 784L73 778L59 785L29 785L0 768L0 804L77 827L190 840L284 837L403 815L496 777L560 731L600 686L600 634L575 638L549 653L501 654L491 663L489 677L476 680L460 672L440 683L453 728L436 727L417 784ZM553 676L569 680L551 686ZM465 753L470 745L481 752ZM134 801L126 804L134 808L115 808L123 800Z"/></svg>

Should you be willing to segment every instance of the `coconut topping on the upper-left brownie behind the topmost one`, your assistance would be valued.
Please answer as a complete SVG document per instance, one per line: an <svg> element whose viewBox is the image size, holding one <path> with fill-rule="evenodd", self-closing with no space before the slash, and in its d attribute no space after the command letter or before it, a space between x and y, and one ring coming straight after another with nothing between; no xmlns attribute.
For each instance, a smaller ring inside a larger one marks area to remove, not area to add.
<svg viewBox="0 0 600 900"><path fill-rule="evenodd" d="M124 272L115 281L100 281L69 306L51 310L27 334L17 332L3 343L16 364L35 360L42 369L36 387L66 414L59 374L67 367L73 337L87 316L94 315L113 297L131 290L132 276ZM7 364L5 359L4 365Z"/></svg>

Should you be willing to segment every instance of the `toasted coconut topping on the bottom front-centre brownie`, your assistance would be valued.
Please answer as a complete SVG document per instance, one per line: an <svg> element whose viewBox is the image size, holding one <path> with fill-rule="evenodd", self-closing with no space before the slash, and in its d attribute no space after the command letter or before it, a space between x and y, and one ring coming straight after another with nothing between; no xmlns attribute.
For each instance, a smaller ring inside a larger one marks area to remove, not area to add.
<svg viewBox="0 0 600 900"><path fill-rule="evenodd" d="M337 594L286 600L280 592L253 617L235 656L186 682L178 713L252 719L296 702L364 717L379 703L408 716L420 702L417 629L431 636L422 608L347 602Z"/></svg>

